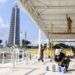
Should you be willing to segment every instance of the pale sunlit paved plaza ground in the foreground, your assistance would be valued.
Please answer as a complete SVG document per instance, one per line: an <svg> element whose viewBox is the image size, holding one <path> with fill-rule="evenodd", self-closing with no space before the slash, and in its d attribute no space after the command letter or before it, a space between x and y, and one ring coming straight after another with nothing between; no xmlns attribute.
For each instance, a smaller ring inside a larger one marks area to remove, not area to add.
<svg viewBox="0 0 75 75"><path fill-rule="evenodd" d="M22 61L16 63L0 64L0 75L74 75L75 59L72 59L67 73L47 71L46 67L51 67L52 62L49 59L44 63L36 59L31 61Z"/></svg>

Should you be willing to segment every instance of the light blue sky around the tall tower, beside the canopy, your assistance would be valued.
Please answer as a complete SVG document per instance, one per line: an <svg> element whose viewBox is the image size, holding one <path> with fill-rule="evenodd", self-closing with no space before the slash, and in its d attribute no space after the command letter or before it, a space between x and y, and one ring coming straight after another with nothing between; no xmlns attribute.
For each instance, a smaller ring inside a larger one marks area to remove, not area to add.
<svg viewBox="0 0 75 75"><path fill-rule="evenodd" d="M0 39L5 42L9 37L10 21L12 7L14 7L16 0L0 0ZM33 22L32 18L28 15L26 10L20 8L20 38L25 38L27 33L27 40L32 43L38 41L38 25ZM43 39L45 35L43 34Z"/></svg>

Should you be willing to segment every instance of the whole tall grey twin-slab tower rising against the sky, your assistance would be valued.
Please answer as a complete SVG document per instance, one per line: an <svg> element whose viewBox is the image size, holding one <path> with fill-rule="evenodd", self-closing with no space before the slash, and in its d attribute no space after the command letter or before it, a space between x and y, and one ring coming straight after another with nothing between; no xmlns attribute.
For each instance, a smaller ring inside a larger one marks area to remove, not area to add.
<svg viewBox="0 0 75 75"><path fill-rule="evenodd" d="M20 9L12 8L8 45L20 45Z"/></svg>

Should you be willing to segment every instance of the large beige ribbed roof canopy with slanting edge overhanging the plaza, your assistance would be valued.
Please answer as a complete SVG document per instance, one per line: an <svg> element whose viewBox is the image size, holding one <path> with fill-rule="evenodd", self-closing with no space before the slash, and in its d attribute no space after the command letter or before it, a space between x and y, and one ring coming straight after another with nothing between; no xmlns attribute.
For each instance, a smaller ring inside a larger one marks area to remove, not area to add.
<svg viewBox="0 0 75 75"><path fill-rule="evenodd" d="M44 33L75 39L75 0L20 0ZM70 18L69 20L67 20Z"/></svg>

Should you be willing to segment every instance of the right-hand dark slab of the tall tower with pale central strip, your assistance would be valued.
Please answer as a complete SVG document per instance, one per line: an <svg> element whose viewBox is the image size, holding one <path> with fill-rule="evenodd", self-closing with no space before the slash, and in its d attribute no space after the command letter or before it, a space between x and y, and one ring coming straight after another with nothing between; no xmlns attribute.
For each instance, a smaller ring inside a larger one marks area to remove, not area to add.
<svg viewBox="0 0 75 75"><path fill-rule="evenodd" d="M15 7L15 21L16 21L16 27L15 27L15 44L20 45L20 9L16 5Z"/></svg>

